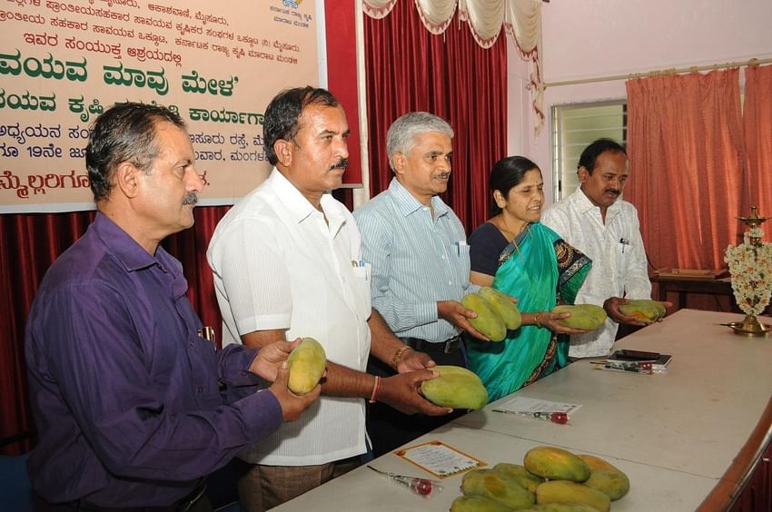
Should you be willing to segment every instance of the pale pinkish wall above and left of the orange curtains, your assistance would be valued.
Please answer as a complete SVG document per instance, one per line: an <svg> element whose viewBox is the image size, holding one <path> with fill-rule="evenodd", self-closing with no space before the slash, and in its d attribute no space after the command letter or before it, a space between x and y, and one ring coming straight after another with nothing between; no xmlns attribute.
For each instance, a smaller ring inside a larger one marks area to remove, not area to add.
<svg viewBox="0 0 772 512"><path fill-rule="evenodd" d="M542 69L548 84L772 57L769 0L551 0L542 5L541 14ZM521 104L518 72L510 75L510 104ZM551 105L625 95L623 80L548 87L544 130L535 138L528 128L532 119L524 123L520 116L510 116L510 149L522 148L546 171L551 166ZM526 112L532 117L530 109ZM545 172L545 191L551 185L551 172Z"/></svg>

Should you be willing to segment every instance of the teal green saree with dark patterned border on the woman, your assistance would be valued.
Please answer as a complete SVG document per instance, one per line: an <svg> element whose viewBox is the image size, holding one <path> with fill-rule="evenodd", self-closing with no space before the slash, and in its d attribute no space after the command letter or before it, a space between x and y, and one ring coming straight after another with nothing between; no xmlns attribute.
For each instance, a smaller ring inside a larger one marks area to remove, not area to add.
<svg viewBox="0 0 772 512"><path fill-rule="evenodd" d="M501 252L493 288L518 298L522 312L552 310L573 304L591 262L540 222ZM535 325L507 332L501 342L468 340L470 369L493 401L568 364L569 338Z"/></svg>

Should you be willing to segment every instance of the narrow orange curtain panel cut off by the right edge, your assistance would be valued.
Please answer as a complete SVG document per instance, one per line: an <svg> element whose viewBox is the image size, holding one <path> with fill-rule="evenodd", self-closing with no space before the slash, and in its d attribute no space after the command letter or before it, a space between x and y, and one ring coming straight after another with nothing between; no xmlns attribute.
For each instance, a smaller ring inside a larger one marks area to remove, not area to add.
<svg viewBox="0 0 772 512"><path fill-rule="evenodd" d="M758 206L759 215L772 217L772 65L745 70L745 148L747 181L743 183L740 212ZM772 241L770 222L761 225L764 240Z"/></svg>

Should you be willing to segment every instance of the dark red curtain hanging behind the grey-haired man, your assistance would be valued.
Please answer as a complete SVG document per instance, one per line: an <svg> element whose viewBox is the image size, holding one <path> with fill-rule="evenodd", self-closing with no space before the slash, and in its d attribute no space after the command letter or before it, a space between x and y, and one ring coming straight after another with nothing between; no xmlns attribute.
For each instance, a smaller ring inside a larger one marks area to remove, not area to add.
<svg viewBox="0 0 772 512"><path fill-rule="evenodd" d="M414 2L382 19L364 18L371 194L386 189L391 169L386 132L403 113L427 111L453 127L453 174L443 200L471 231L488 215L488 174L507 155L507 38L475 43L458 12L444 34L421 24Z"/></svg>

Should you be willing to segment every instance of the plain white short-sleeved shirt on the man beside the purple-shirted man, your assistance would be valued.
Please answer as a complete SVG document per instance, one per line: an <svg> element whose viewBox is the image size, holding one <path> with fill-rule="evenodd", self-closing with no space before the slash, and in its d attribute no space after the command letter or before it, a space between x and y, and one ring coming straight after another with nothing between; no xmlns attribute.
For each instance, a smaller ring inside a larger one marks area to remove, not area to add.
<svg viewBox="0 0 772 512"><path fill-rule="evenodd" d="M327 359L364 371L369 268L359 265L361 239L351 212L330 194L321 203L323 213L274 169L218 224L207 257L223 343L240 343L255 330L287 330L287 340L311 336ZM240 457L310 466L365 451L364 400L325 396Z"/></svg>

